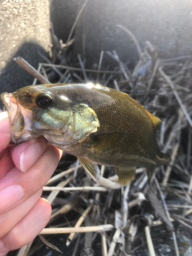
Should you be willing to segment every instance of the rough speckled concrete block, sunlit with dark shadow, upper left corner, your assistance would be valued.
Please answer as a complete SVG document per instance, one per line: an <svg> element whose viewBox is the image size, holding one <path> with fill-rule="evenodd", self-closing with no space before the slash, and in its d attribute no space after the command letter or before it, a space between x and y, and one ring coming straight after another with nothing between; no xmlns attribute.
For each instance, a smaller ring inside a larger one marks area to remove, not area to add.
<svg viewBox="0 0 192 256"><path fill-rule="evenodd" d="M0 7L0 93L32 83L33 77L12 59L18 55L38 67L50 44L48 0L6 0ZM47 54L48 56L48 54Z"/></svg>

